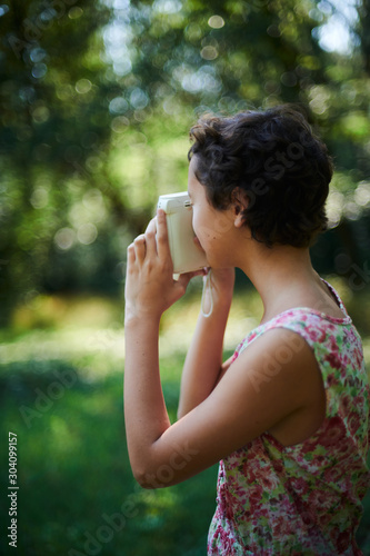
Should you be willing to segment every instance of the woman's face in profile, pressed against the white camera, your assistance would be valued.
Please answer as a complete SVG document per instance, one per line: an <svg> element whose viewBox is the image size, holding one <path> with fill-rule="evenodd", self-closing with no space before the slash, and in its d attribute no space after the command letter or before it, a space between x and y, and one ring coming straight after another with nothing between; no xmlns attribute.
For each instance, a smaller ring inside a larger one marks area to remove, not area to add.
<svg viewBox="0 0 370 556"><path fill-rule="evenodd" d="M209 203L206 187L198 181L196 170L197 156L193 156L189 166L188 192L196 236L211 267L233 266L230 251L230 239L236 231L232 209L218 210Z"/></svg>

